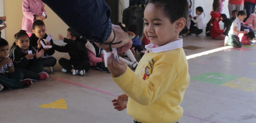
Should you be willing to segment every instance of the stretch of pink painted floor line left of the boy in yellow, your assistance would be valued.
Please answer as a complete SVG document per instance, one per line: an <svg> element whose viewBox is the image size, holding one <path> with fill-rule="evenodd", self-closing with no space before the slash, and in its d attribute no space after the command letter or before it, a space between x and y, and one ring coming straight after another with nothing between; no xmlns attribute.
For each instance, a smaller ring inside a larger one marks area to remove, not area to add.
<svg viewBox="0 0 256 123"><path fill-rule="evenodd" d="M72 84L72 85L80 86L80 87L83 87L83 88L86 88L86 89L90 89L90 90L93 90L93 91L98 91L100 93L108 94L108 95L111 95L111 96L115 96L115 97L118 96L118 95L113 94L111 92L104 91L104 90L97 89L97 88L93 88L93 87L88 86L88 85L84 85L84 84L80 84L80 83L75 83L75 82L64 80L64 79L61 79L61 78L55 78L55 77L51 77L51 78L54 79L54 80L57 80L57 81L61 81L61 82L69 83L69 84Z"/></svg>

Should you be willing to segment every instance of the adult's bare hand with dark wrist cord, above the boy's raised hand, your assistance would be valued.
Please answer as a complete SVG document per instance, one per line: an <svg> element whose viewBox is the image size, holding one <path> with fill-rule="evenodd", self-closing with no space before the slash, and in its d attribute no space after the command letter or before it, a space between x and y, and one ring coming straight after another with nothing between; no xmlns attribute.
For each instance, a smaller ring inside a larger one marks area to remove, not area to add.
<svg viewBox="0 0 256 123"><path fill-rule="evenodd" d="M125 31L123 31L119 25L112 24L112 29L116 33L116 38L113 41L113 43L117 43L117 42L120 42L120 41L122 41L122 42L118 43L118 44L112 44L111 47L112 48L118 48L117 49L118 53L126 52L127 50L129 50L131 48L132 41L131 41L131 38L128 36L128 34ZM114 33L112 31L110 37L104 43L110 43L113 39L114 39ZM96 43L96 45L98 47L106 50L107 52L110 51L109 44L102 44L101 45L100 43Z"/></svg>

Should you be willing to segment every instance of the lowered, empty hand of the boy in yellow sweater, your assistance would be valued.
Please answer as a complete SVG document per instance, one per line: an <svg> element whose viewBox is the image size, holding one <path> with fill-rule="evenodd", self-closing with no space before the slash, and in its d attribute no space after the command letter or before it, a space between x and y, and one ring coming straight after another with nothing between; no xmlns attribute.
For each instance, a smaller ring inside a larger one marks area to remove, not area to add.
<svg viewBox="0 0 256 123"><path fill-rule="evenodd" d="M115 106L114 109L116 109L117 111L122 111L126 109L127 102L128 96L126 94L119 95L117 99L112 100L113 106Z"/></svg>

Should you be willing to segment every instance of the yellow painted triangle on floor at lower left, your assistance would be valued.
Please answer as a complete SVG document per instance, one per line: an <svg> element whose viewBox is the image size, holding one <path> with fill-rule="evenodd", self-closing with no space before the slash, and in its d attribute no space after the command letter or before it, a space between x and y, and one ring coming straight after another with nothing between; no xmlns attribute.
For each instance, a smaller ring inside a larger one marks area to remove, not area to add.
<svg viewBox="0 0 256 123"><path fill-rule="evenodd" d="M49 109L68 109L66 101L63 99L60 100L56 100L52 103L49 104L43 104L43 105L39 105L39 107L42 108L49 108Z"/></svg>

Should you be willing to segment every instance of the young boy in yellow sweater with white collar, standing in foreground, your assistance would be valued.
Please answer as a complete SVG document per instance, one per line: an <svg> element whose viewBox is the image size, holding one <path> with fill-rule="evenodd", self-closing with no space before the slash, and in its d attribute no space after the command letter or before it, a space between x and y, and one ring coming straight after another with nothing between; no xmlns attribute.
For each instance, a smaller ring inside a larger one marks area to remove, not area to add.
<svg viewBox="0 0 256 123"><path fill-rule="evenodd" d="M147 0L144 33L151 44L135 73L127 65L108 58L112 79L125 92L112 100L115 109L134 118L134 123L179 123L180 106L188 88L188 61L179 39L188 19L187 0Z"/></svg>

